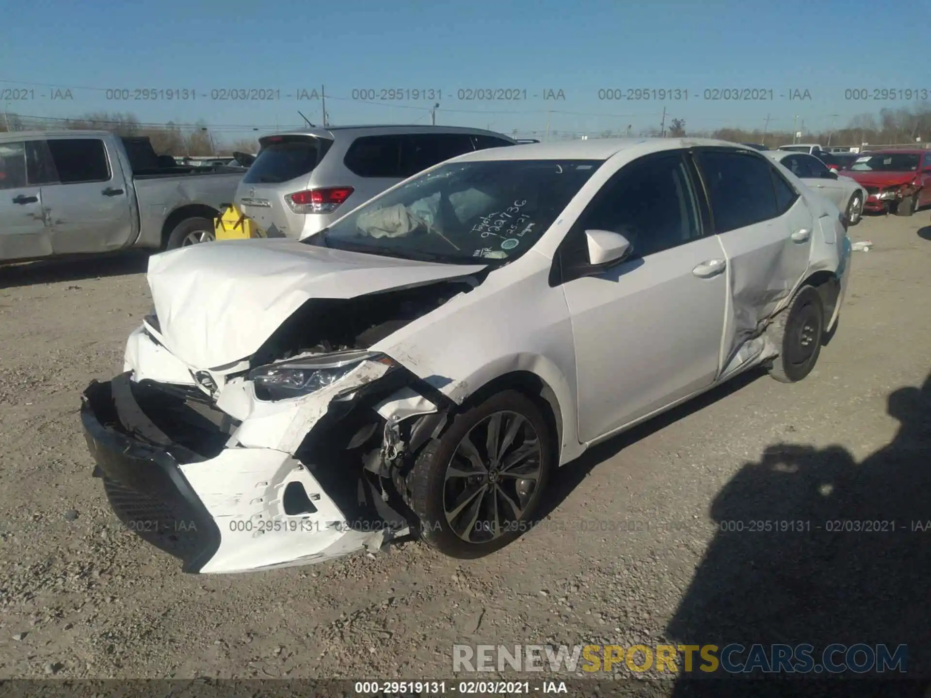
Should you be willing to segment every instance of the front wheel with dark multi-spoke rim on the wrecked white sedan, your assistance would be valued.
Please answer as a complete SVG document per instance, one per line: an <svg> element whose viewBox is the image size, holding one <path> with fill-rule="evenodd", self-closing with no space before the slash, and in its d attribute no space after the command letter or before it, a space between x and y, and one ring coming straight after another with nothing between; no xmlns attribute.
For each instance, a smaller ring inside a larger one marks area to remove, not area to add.
<svg viewBox="0 0 931 698"><path fill-rule="evenodd" d="M533 400L514 390L455 417L408 478L425 542L459 559L484 557L529 530L556 461Z"/></svg>

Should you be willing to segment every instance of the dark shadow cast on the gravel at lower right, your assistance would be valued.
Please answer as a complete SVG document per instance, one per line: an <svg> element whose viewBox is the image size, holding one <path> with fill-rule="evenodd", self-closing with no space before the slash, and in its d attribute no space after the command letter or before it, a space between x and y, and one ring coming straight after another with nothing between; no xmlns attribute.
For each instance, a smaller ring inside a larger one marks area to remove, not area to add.
<svg viewBox="0 0 931 698"><path fill-rule="evenodd" d="M903 679L931 679L931 375L887 404L897 435L861 463L840 446L776 444L744 465L711 505L719 530L667 634L720 649L808 643L815 664L833 643L905 644L908 673L865 675L881 686L812 672L787 686L695 671L673 695L925 695Z"/></svg>

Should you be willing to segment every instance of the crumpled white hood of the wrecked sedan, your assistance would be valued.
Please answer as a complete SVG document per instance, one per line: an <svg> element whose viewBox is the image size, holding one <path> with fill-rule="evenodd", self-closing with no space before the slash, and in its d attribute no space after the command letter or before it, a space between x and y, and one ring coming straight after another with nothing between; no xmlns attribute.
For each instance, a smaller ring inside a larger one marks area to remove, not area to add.
<svg viewBox="0 0 931 698"><path fill-rule="evenodd" d="M190 366L216 369L254 354L312 298L355 298L484 268L272 238L223 240L155 255L148 280L165 346Z"/></svg>

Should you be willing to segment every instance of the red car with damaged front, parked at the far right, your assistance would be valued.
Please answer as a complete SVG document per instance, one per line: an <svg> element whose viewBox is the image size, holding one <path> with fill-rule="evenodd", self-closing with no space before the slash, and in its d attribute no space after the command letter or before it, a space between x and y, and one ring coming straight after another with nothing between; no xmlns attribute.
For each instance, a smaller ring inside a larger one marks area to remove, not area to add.
<svg viewBox="0 0 931 698"><path fill-rule="evenodd" d="M911 216L931 204L931 150L870 151L843 175L867 190L866 211Z"/></svg>

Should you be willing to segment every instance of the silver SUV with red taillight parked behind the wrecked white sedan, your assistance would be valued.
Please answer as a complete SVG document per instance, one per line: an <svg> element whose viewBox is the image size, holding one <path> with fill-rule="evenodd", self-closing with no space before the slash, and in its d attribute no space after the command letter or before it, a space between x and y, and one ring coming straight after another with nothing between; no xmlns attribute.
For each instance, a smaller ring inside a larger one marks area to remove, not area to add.
<svg viewBox="0 0 931 698"><path fill-rule="evenodd" d="M308 128L259 139L236 205L270 236L304 239L398 181L472 151L515 145L480 128Z"/></svg>

